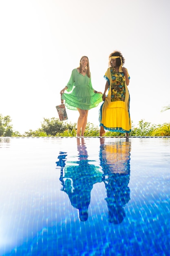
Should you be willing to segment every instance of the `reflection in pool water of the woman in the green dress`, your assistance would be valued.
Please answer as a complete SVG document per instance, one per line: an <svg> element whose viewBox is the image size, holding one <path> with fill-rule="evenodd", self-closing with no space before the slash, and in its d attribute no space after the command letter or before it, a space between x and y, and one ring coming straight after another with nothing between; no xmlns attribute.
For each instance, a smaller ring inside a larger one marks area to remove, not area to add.
<svg viewBox="0 0 170 256"><path fill-rule="evenodd" d="M66 162L62 180L63 191L68 194L73 207L79 210L79 219L88 219L88 206L91 201L93 184L102 182L99 167L90 163L84 138L77 138L78 161ZM62 178L61 178L62 177Z"/></svg>

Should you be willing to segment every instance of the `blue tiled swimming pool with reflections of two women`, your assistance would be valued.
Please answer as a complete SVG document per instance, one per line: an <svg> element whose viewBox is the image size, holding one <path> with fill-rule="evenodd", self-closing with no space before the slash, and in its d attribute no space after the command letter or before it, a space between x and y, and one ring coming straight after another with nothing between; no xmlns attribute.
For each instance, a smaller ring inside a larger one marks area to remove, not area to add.
<svg viewBox="0 0 170 256"><path fill-rule="evenodd" d="M0 138L0 256L170 255L170 137Z"/></svg>

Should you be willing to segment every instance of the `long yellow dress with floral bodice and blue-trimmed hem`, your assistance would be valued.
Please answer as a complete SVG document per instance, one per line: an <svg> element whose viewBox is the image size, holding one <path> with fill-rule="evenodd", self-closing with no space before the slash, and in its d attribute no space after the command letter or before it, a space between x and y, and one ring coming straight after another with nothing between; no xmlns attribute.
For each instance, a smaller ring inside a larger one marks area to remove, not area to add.
<svg viewBox="0 0 170 256"><path fill-rule="evenodd" d="M109 67L104 77L108 81L109 88L108 95L100 108L100 126L112 132L129 133L131 130L130 96L124 73L113 73L113 69Z"/></svg>

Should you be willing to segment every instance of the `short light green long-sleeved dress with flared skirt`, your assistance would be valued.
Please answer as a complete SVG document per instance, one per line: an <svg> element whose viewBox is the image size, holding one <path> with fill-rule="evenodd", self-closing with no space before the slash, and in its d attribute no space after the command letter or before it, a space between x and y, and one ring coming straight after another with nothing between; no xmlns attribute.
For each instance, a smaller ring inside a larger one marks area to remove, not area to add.
<svg viewBox="0 0 170 256"><path fill-rule="evenodd" d="M80 74L77 68L72 71L67 87L67 92L73 91L63 93L62 99L65 100L66 107L71 110L77 110L77 108L89 110L102 102L102 94L94 93L91 78Z"/></svg>

